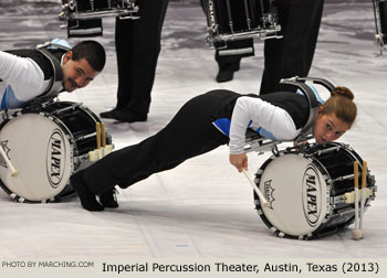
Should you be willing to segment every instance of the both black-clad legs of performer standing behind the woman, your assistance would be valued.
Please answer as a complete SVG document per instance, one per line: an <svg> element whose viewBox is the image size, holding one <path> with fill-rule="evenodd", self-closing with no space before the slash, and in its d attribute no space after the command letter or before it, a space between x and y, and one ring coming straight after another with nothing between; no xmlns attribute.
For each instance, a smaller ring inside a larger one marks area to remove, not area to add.
<svg viewBox="0 0 387 278"><path fill-rule="evenodd" d="M260 95L294 90L280 84L281 78L307 76L317 43L324 0L273 0L271 4L281 25L278 35L283 38L264 41ZM231 81L233 73L239 71L241 58L251 55L254 55L252 39L228 42L226 50L216 52L219 66L217 82Z"/></svg>

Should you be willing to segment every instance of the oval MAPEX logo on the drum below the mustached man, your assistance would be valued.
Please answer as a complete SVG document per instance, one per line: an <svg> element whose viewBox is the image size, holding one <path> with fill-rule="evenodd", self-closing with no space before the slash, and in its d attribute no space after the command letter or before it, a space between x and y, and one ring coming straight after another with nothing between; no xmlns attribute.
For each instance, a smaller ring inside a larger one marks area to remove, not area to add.
<svg viewBox="0 0 387 278"><path fill-rule="evenodd" d="M55 129L49 140L46 153L48 179L54 189L62 181L65 167L65 145L64 137L60 129Z"/></svg>

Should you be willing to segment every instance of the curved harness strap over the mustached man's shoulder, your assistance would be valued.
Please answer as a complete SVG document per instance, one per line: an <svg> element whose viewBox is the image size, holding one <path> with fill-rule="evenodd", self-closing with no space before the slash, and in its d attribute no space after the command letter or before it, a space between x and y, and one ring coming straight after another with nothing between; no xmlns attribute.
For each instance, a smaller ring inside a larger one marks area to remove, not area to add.
<svg viewBox="0 0 387 278"><path fill-rule="evenodd" d="M60 45L60 44L53 44L51 42L46 42L44 44L39 44L36 46L36 51L42 53L51 63L52 65L52 71L53 71L53 77L51 79L51 84L46 92L44 92L42 95L40 95L38 98L54 98L57 96L57 93L62 88L62 81L63 81L63 73L62 73L62 66L61 62L48 50L49 46L55 47L55 49L61 49L64 51L70 51L70 49Z"/></svg>

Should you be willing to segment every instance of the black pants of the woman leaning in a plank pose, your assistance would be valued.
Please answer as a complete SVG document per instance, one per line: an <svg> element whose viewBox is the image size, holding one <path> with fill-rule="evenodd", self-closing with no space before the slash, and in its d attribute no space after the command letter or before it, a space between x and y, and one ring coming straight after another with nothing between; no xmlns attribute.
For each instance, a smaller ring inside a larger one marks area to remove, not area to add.
<svg viewBox="0 0 387 278"><path fill-rule="evenodd" d="M116 184L127 188L153 173L172 169L189 158L228 143L229 138L212 121L219 116L217 110L223 108L221 99L238 96L229 90L213 90L192 98L158 133L114 151L81 171L83 180L94 194L102 194Z"/></svg>

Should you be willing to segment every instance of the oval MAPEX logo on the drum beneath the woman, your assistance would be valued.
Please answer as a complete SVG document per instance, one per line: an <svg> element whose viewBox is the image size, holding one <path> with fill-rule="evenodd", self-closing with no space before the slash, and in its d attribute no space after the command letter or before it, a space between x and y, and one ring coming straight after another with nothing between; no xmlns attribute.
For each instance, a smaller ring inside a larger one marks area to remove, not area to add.
<svg viewBox="0 0 387 278"><path fill-rule="evenodd" d="M302 181L303 209L305 218L310 226L314 227L320 220L322 192L317 169L313 164L306 167Z"/></svg>

